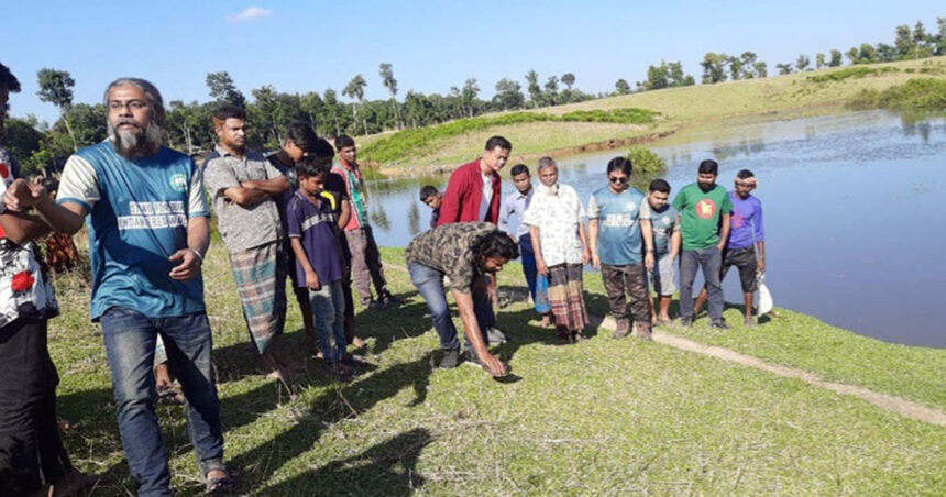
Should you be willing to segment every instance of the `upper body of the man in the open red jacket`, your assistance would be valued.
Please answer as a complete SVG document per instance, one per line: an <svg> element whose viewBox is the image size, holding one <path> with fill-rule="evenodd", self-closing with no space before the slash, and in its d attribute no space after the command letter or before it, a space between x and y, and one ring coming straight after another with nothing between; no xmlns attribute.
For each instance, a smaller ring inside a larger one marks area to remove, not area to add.
<svg viewBox="0 0 946 497"><path fill-rule="evenodd" d="M483 156L450 175L438 225L451 222L499 220L499 170L509 159L513 144L503 136L486 141Z"/></svg>

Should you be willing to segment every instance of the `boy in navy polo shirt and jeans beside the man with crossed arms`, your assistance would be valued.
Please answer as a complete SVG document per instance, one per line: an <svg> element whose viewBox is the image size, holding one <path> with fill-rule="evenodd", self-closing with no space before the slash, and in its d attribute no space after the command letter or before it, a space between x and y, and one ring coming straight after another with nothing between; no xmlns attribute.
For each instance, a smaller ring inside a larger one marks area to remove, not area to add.
<svg viewBox="0 0 946 497"><path fill-rule="evenodd" d="M348 375L352 369L341 363L348 346L342 250L332 206L321 196L330 173L330 161L305 156L296 164L299 188L286 206L286 221L296 255L293 270L297 275L297 285L308 288L322 355L333 372Z"/></svg>

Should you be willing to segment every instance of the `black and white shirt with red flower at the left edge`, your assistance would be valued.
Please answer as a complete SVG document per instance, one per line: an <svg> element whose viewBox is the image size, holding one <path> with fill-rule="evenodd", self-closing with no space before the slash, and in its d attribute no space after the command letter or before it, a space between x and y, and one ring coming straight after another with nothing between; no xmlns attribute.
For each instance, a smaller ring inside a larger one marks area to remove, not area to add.
<svg viewBox="0 0 946 497"><path fill-rule="evenodd" d="M0 197L19 172L16 159L0 146ZM18 245L0 236L0 328L19 318L50 319L58 313L48 268L36 243Z"/></svg>

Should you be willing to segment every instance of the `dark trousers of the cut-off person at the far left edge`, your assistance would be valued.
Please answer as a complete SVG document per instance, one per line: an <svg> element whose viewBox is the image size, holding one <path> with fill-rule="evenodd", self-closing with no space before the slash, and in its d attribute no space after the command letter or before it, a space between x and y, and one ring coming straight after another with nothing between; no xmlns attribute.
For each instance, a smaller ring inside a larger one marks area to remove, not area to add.
<svg viewBox="0 0 946 497"><path fill-rule="evenodd" d="M21 495L73 471L56 422L59 376L46 321L0 329L0 495Z"/></svg>

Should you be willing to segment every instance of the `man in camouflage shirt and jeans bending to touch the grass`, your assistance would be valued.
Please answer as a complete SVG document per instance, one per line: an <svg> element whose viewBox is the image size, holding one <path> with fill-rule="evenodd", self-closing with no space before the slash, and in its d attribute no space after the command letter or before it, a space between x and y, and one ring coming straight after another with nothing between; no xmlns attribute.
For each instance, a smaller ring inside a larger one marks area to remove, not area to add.
<svg viewBox="0 0 946 497"><path fill-rule="evenodd" d="M490 340L474 310L488 307L486 273L496 274L519 256L509 235L487 222L463 222L437 227L414 239L405 252L410 280L427 301L433 328L440 335L444 355L439 367L457 367L462 362L457 328L450 317L443 277L450 277L450 295L457 301L466 334L468 361L493 376L505 376L508 365L486 349Z"/></svg>

